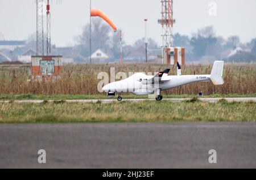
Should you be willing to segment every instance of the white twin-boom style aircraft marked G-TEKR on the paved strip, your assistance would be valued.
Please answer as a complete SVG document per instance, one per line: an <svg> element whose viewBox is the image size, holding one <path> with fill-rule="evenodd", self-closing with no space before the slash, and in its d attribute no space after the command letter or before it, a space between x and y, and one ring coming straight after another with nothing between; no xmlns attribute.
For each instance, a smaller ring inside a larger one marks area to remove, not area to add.
<svg viewBox="0 0 256 180"><path fill-rule="evenodd" d="M177 63L177 76L168 76L170 69L159 72L156 76L147 76L144 73L136 73L122 81L112 82L104 86L102 90L108 93L109 98L118 93L118 101L122 101L121 93L133 93L135 95L156 94L156 101L161 101L161 91L187 85L194 82L209 82L214 85L223 85L224 61L215 61L212 73L209 75L185 75L181 76L181 68Z"/></svg>

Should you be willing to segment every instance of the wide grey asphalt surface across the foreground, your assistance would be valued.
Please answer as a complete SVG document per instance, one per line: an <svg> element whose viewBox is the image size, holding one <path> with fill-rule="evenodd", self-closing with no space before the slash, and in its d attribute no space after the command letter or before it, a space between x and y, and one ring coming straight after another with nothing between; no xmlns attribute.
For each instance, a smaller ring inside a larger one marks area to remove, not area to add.
<svg viewBox="0 0 256 180"><path fill-rule="evenodd" d="M256 168L256 123L2 124L0 168Z"/></svg>

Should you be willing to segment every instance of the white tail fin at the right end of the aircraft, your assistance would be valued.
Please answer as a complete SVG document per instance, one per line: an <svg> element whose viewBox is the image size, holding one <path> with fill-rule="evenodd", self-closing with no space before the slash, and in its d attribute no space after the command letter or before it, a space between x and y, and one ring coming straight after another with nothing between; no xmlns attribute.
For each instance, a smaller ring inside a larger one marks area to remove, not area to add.
<svg viewBox="0 0 256 180"><path fill-rule="evenodd" d="M224 61L215 61L212 73L210 74L210 80L214 85L223 85L223 69L224 69Z"/></svg>

